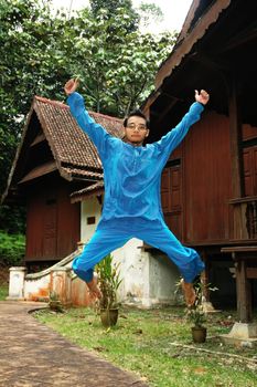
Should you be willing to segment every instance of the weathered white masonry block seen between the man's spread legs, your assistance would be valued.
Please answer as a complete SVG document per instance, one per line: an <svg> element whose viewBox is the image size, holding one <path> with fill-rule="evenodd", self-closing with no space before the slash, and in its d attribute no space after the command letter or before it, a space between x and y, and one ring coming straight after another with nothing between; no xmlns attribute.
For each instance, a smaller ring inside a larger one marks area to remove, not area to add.
<svg viewBox="0 0 257 387"><path fill-rule="evenodd" d="M142 247L143 242L133 238L113 253L115 262L121 262L120 300L146 307L183 303L181 292L176 292L180 279L176 266L165 254L150 253Z"/></svg>

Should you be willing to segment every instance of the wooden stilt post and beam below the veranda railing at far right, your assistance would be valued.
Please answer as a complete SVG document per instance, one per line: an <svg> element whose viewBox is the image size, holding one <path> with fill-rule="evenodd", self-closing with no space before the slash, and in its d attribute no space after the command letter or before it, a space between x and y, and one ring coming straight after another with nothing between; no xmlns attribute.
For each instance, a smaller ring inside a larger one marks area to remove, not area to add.
<svg viewBox="0 0 257 387"><path fill-rule="evenodd" d="M223 253L231 253L235 261L236 269L236 292L237 292L237 313L242 323L253 321L250 281L257 279L257 245L236 245L222 248Z"/></svg>

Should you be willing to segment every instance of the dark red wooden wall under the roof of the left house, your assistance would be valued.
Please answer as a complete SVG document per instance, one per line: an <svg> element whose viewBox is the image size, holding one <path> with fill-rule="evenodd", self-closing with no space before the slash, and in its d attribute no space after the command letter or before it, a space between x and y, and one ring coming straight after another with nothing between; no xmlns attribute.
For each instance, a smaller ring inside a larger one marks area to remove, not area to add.
<svg viewBox="0 0 257 387"><path fill-rule="evenodd" d="M29 192L25 260L61 260L81 239L79 203L71 203L68 182L60 178L41 178Z"/></svg>

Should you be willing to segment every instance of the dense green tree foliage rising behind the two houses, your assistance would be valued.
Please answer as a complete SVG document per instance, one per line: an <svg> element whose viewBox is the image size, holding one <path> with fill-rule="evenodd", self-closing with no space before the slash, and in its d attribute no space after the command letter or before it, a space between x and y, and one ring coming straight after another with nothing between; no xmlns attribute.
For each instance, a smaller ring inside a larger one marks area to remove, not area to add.
<svg viewBox="0 0 257 387"><path fill-rule="evenodd" d="M114 1L96 3L109 9L85 8L68 19L63 13L53 18L47 0L1 1L0 195L33 95L64 101L64 83L78 75L88 108L124 117L151 92L175 35L129 31L129 0L119 0L125 7L113 13ZM7 208L0 209L0 218L13 221Z"/></svg>

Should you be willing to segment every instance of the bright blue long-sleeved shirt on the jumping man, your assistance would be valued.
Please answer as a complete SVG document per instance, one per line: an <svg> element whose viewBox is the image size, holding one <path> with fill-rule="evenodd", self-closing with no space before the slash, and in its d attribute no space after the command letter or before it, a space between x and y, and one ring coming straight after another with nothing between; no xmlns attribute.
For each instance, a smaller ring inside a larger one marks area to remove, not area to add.
<svg viewBox="0 0 257 387"><path fill-rule="evenodd" d="M98 149L105 181L101 219L141 217L163 219L161 172L172 150L181 143L191 125L200 119L203 105L195 102L179 125L159 142L132 146L108 134L89 116L78 93L68 96L72 115Z"/></svg>

